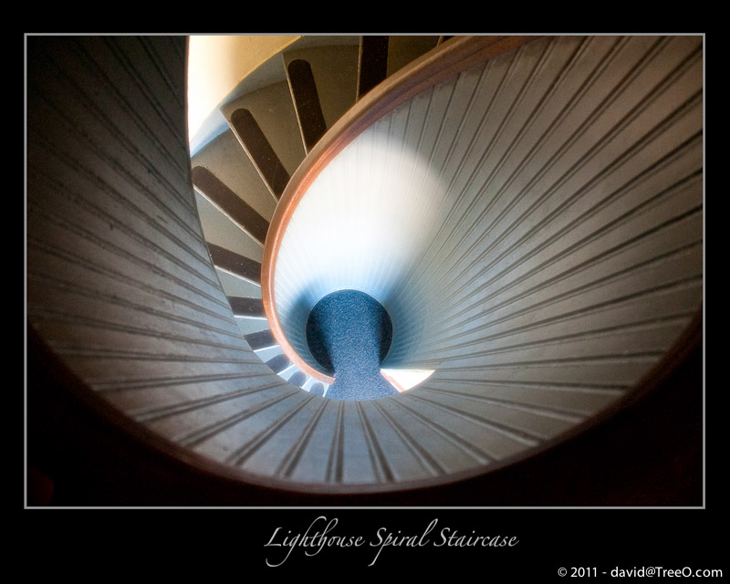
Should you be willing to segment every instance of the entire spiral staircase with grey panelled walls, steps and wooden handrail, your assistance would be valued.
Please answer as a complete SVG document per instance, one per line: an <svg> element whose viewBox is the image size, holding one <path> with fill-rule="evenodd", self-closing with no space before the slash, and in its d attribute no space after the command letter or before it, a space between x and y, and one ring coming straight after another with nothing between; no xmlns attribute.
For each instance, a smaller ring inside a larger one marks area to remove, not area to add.
<svg viewBox="0 0 730 584"><path fill-rule="evenodd" d="M125 432L289 494L429 489L696 350L702 37L303 37L190 151L185 40L28 42L28 336ZM327 397L304 330L348 288L398 395Z"/></svg>

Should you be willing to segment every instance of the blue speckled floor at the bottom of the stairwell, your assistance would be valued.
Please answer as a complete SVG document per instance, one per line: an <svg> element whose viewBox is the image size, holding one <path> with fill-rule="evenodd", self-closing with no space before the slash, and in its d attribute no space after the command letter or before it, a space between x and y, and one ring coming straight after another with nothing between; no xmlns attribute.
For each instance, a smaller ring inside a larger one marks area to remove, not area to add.
<svg viewBox="0 0 730 584"><path fill-rule="evenodd" d="M335 378L326 397L357 401L397 394L380 372L391 339L391 318L370 295L338 290L319 300L309 313L307 342L312 357Z"/></svg>

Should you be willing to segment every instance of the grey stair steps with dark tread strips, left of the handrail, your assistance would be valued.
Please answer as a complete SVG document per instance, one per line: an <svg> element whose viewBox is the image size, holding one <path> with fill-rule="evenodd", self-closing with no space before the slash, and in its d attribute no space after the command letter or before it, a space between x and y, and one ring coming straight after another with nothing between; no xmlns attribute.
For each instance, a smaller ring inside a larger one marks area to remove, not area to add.
<svg viewBox="0 0 730 584"><path fill-rule="evenodd" d="M367 45L370 40L360 39L360 46L363 43ZM264 106L271 110L273 103L276 104L274 110L287 111L293 105L304 151L309 151L328 127L346 113L357 99L357 72L361 69L357 60L358 47L352 39L344 37L333 38L330 42L336 42L337 45L322 47L305 42L287 48L281 57L282 73L286 75L290 89L290 101L281 104L283 85L275 82L269 87L257 88L226 102L222 110L229 118L230 131L224 132L193 156L193 185L204 199L198 198L203 234L210 244L214 265L226 274L259 284L252 274L259 267L255 262L260 259L260 254L251 248L250 241L235 237L232 224L255 243L263 245L268 230L268 215L265 217L260 214L245 199L249 192L254 193L256 206L267 211L268 208L261 202L261 185L265 185L266 190L277 200L289 180L289 172L274 144L278 143L280 148L281 144L290 141L286 137L292 136L292 130L279 120L276 128L278 140L270 140L272 126L269 124L267 130L270 131L265 132L256 121L256 118L265 120L266 115L270 115ZM376 57L370 57L370 60L382 60L381 74L377 76L379 82L410 60L420 57L437 41L434 37L384 36L378 42L381 51ZM370 67L367 57L365 61L365 68ZM371 83L374 85L375 82L373 78ZM321 96L318 85L323 88ZM289 152L289 168L292 168L293 162L299 161L299 154L295 151ZM240 163L241 152L248 163L243 164L244 168L237 172L235 169ZM254 168L255 173L250 172L249 168ZM235 184L235 189L224 180ZM231 305L237 318L258 318L251 309L260 305L260 294L249 298L237 297L232 291L226 290L225 283L224 290L229 299L235 298ZM243 325L241 320L239 323ZM250 323L242 326L247 340L260 339L261 335L267 334L266 329L251 331L249 328ZM255 345L254 348L266 363L273 362L276 369L280 369L280 361L276 360L280 357L276 342L269 342L267 347ZM277 372L283 377L291 374L288 368ZM306 384L306 387L310 386Z"/></svg>

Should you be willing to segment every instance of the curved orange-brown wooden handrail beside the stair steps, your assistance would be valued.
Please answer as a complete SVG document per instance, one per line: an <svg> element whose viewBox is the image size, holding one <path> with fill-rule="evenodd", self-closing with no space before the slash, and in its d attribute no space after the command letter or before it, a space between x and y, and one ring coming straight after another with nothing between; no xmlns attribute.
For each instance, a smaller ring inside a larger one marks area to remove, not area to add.
<svg viewBox="0 0 730 584"><path fill-rule="evenodd" d="M334 378L315 370L290 345L276 313L274 275L276 259L287 225L318 174L351 141L377 120L424 89L478 63L521 47L539 36L457 36L401 68L370 90L322 137L309 152L282 193L271 220L261 266L261 297L271 332L281 349L297 367L318 381Z"/></svg>

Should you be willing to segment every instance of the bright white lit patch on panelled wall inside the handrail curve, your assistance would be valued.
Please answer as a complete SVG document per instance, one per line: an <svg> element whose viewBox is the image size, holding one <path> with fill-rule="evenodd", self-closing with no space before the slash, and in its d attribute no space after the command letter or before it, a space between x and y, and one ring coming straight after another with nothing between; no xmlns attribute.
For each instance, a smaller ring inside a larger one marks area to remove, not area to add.
<svg viewBox="0 0 730 584"><path fill-rule="evenodd" d="M398 276L421 257L445 189L428 157L401 142L402 131L376 122L309 186L276 262L281 313L311 308L341 289L361 290L387 307Z"/></svg>

